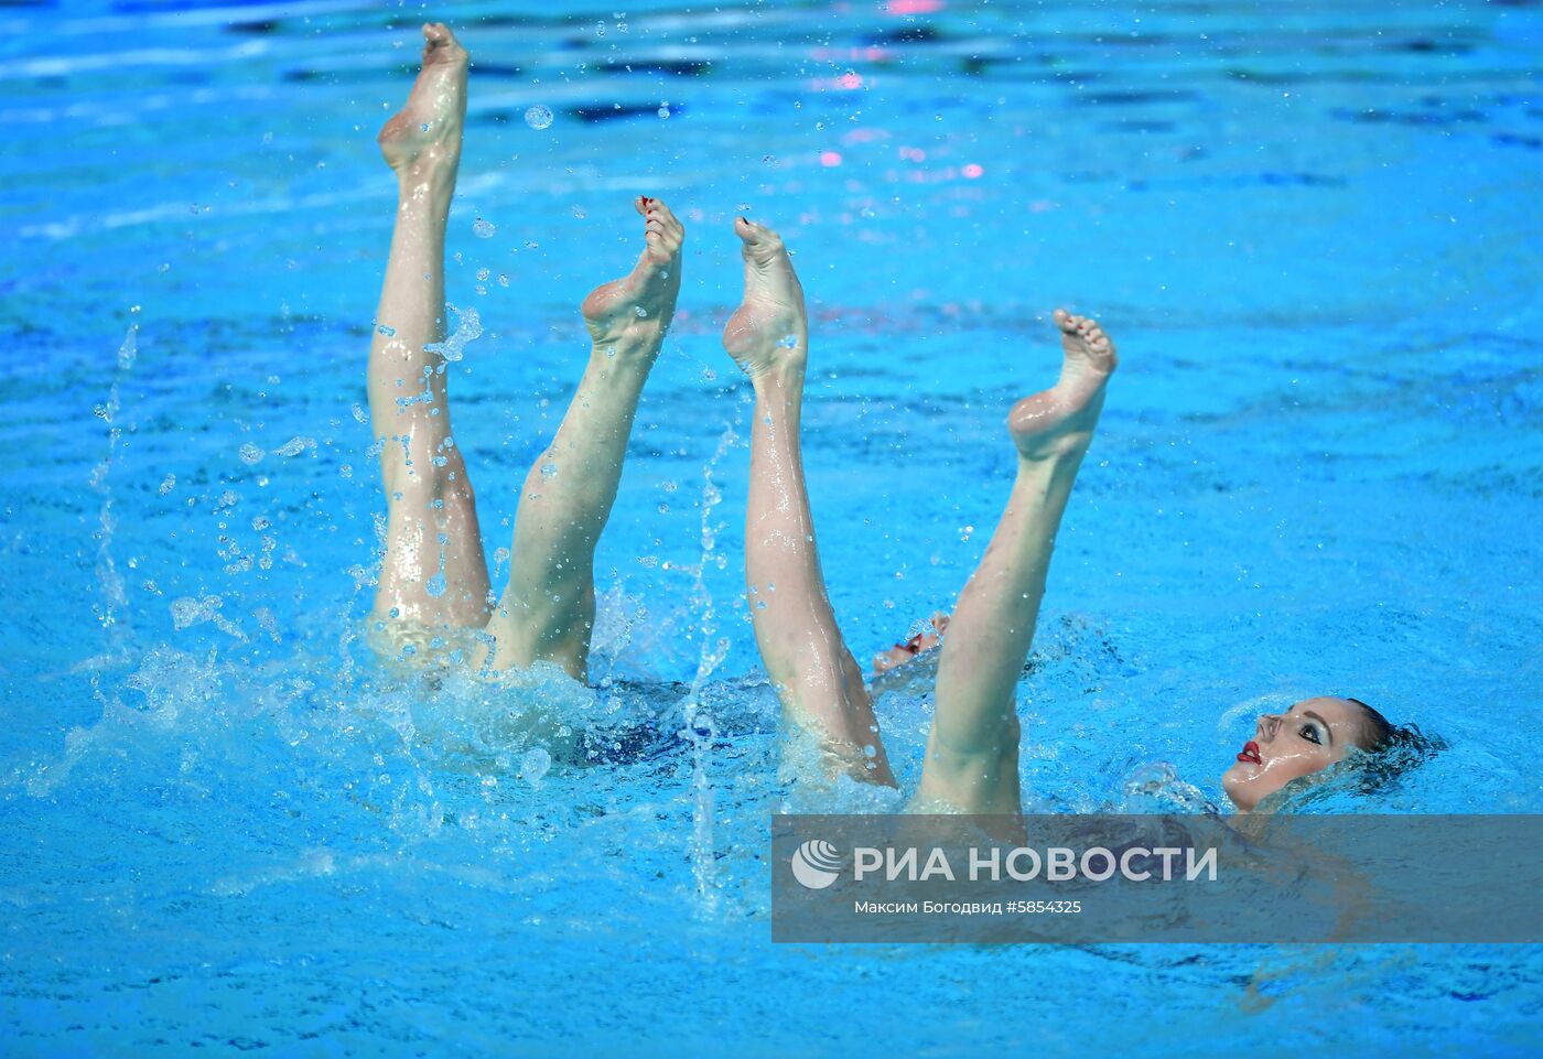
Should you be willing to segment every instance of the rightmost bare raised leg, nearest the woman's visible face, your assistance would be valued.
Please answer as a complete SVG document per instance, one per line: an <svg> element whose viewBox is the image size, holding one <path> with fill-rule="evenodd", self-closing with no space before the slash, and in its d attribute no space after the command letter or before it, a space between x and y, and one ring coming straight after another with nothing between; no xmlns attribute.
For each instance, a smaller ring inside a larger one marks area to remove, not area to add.
<svg viewBox="0 0 1543 1059"><path fill-rule="evenodd" d="M918 801L1021 812L1014 689L1034 639L1055 531L1116 366L1099 324L1065 310L1055 312L1055 324L1066 352L1060 381L1018 401L1008 417L1018 475L949 619Z"/></svg>

